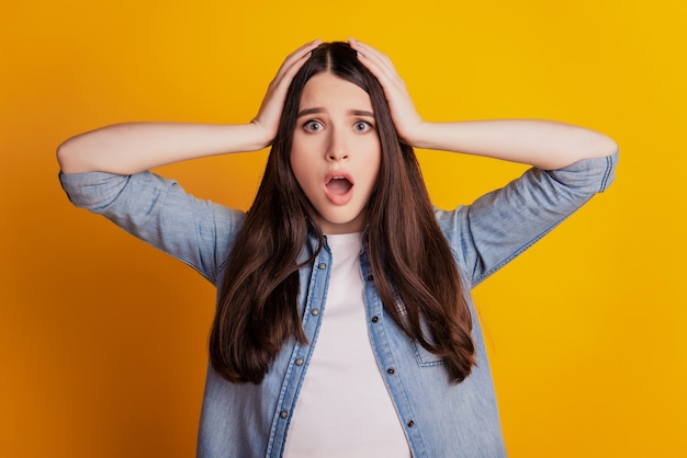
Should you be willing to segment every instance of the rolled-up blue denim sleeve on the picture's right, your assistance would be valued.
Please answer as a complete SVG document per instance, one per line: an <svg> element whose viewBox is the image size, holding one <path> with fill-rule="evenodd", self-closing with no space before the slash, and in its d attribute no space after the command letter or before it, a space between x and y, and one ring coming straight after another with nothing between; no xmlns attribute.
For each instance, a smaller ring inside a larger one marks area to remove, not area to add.
<svg viewBox="0 0 687 458"><path fill-rule="evenodd" d="M604 192L615 179L618 152L558 170L530 169L472 205L437 218L472 286L522 253Z"/></svg>

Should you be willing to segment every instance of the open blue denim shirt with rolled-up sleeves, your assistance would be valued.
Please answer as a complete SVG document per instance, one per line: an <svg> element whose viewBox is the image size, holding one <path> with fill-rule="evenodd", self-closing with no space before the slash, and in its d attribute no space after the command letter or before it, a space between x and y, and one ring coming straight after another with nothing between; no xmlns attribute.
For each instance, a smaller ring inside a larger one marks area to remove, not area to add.
<svg viewBox="0 0 687 458"><path fill-rule="evenodd" d="M518 180L455 210L437 210L464 284L472 288L612 181L618 154L564 169L528 170ZM217 286L244 214L187 194L149 172L60 174L74 204L189 264ZM315 249L312 240L304 253ZM234 385L209 367L199 457L281 457L289 424L317 344L331 254L325 248L301 270L300 307L308 344L285 344L260 385ZM463 382L449 382L442 360L409 340L385 312L367 251L360 254L368 330L378 365L413 456L506 455L482 329L473 311L477 366ZM470 307L472 301L469 299ZM331 414L336 414L333 412Z"/></svg>

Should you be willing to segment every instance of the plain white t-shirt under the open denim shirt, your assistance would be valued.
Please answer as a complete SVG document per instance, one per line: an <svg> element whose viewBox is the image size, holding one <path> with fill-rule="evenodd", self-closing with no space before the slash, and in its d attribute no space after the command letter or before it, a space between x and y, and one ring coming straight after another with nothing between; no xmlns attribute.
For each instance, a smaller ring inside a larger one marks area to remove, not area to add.
<svg viewBox="0 0 687 458"><path fill-rule="evenodd" d="M286 458L410 457L368 335L361 237L327 236L329 290L289 427Z"/></svg>

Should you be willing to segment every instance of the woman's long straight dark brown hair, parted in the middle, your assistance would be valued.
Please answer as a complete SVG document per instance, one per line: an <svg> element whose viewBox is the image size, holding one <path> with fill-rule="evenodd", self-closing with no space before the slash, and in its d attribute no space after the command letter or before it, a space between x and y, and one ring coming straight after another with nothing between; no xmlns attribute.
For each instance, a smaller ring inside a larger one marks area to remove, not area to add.
<svg viewBox="0 0 687 458"><path fill-rule="evenodd" d="M259 383L284 342L307 341L299 313L299 268L314 262L323 234L309 222L315 209L289 158L303 88L326 71L368 92L375 113L382 163L367 208L367 245L382 304L410 339L443 358L449 378L460 382L475 359L472 319L451 249L415 152L398 140L381 84L346 43L313 50L289 89L262 182L225 267L210 336L212 366L229 381ZM309 231L318 249L300 264ZM423 333L420 317L430 335Z"/></svg>

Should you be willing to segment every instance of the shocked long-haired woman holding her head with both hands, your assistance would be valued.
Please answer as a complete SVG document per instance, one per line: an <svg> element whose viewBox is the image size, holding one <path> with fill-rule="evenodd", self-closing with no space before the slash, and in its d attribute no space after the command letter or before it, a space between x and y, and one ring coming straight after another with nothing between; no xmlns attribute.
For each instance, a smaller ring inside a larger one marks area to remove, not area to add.
<svg viewBox="0 0 687 458"><path fill-rule="evenodd" d="M247 215L146 171L270 144ZM533 167L441 211L413 147ZM109 126L58 160L76 205L218 288L199 456L498 457L470 289L604 191L616 151L560 123L426 123L351 39L290 55L251 123Z"/></svg>

